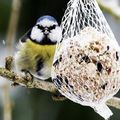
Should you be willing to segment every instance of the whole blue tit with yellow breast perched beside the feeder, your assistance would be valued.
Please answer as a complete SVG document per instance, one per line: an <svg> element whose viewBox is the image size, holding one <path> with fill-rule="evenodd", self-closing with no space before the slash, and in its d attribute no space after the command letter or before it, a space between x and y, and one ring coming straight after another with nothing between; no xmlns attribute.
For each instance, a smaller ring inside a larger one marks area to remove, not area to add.
<svg viewBox="0 0 120 120"><path fill-rule="evenodd" d="M51 67L56 43L62 38L62 30L52 16L40 17L36 24L19 40L15 54L18 73L28 71L41 80L51 77Z"/></svg>

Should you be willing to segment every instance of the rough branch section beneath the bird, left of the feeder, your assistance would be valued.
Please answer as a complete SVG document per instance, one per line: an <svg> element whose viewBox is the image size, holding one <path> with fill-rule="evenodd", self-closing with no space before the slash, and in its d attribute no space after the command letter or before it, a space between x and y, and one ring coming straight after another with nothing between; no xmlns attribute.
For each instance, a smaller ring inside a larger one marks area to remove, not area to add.
<svg viewBox="0 0 120 120"><path fill-rule="evenodd" d="M56 91L55 86L51 82L34 79L33 82L29 84L29 80L26 80L23 77L5 68L0 68L0 76L28 88L38 88L52 93Z"/></svg>

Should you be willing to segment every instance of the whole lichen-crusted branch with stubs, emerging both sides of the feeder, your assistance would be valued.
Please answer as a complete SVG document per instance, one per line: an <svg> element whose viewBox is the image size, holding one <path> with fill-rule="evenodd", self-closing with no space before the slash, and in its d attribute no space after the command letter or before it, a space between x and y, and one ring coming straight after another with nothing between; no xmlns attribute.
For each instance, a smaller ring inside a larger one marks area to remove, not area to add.
<svg viewBox="0 0 120 120"><path fill-rule="evenodd" d="M6 66L6 68L0 67L0 76L4 77L12 82L18 83L19 85L27 87L27 88L37 88L37 89L42 89L42 90L51 92L53 94L57 93L57 89L52 82L42 81L42 80L38 80L35 78L32 81L28 80L28 79L26 80L25 78L19 76L15 72L11 71L10 66L11 66L11 63L13 60L12 57L7 57L5 60L6 60L5 65L9 65L9 67L8 66ZM9 68L9 69L7 69L7 68ZM56 98L58 98L58 99L56 99ZM63 100L66 100L67 98L65 98L63 96L62 97L61 96L58 96L58 97L53 96L53 99L63 101ZM117 109L120 109L120 98L113 97L112 99L107 101L107 105L112 106Z"/></svg>

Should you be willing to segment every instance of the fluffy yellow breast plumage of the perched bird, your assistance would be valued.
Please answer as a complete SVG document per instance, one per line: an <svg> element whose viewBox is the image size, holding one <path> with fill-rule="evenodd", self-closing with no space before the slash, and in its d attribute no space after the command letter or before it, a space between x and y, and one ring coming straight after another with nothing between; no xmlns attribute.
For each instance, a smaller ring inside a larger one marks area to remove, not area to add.
<svg viewBox="0 0 120 120"><path fill-rule="evenodd" d="M31 40L22 44L19 52L19 66L24 69L36 70L37 61L43 59L43 64L51 68L56 45L40 45Z"/></svg>

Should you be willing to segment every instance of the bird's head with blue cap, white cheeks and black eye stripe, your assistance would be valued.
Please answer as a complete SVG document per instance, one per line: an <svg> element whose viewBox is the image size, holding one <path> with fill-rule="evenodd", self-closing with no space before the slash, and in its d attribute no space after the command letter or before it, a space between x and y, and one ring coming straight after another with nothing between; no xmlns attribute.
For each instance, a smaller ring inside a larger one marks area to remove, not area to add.
<svg viewBox="0 0 120 120"><path fill-rule="evenodd" d="M40 44L56 44L62 38L62 30L54 17L46 15L37 20L30 37Z"/></svg>

